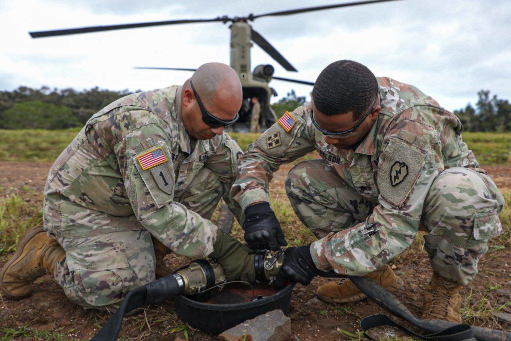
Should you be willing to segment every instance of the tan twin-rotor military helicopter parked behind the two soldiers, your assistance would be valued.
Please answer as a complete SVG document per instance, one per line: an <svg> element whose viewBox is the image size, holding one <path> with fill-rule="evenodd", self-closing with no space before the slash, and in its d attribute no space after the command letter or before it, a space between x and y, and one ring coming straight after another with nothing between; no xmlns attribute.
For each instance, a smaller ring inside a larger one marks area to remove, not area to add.
<svg viewBox="0 0 511 341"><path fill-rule="evenodd" d="M311 11L319 11L319 10L327 10L334 9L339 7L348 7L348 6L357 6L357 5L366 5L373 3L383 3L394 0L368 0L368 1L358 1L358 2L350 2L350 3L342 3L342 4L334 4L334 5L323 5L323 6L314 6L293 10L285 10L278 12L270 12L264 14L249 14L244 17L229 17L227 15L216 17L212 19L178 19L178 20L166 20L166 21L152 21L152 22L138 22L134 24L124 24L124 25L108 25L108 26L91 26L91 27L82 27L75 29L61 29L61 30L51 30L51 31L37 31L37 32L29 32L32 38L42 38L42 37L53 37L53 36L61 36L61 35L70 35L70 34L80 34L80 33L92 33L92 32L101 32L101 31L112 31L112 30L122 30L122 29L132 29L132 28L141 28L141 27L151 27L151 26L162 26L162 25L177 25L177 24L192 24L198 22L212 22L212 21L221 21L224 24L227 22L232 22L229 26L230 29L230 66L238 73L240 77L241 85L243 87L243 105L240 109L240 118L238 122L234 125L234 129L244 130L244 128L250 122L250 110L251 107L249 105L249 99L252 97L257 97L261 103L261 117L260 122L262 127L269 127L276 120L275 113L271 109L270 99L271 96L277 96L275 90L269 86L269 82L272 79L287 81L292 83L306 84L306 85L314 85L313 82L290 79L284 77L276 77L273 76L274 68L270 64L261 64L255 66L253 71L251 70L251 60L250 60L250 49L253 47L252 42L256 43L261 49L263 49L267 54L269 54L277 63L281 64L286 71L297 72L295 67L291 65L291 63L284 58L282 54L280 54L269 42L266 40L260 33L255 31L249 24L249 21L253 21L255 19L264 17L264 16L281 16L281 15L291 15L298 14L304 12ZM184 69L179 67L135 67L135 69L151 69L151 70L177 70L177 71L195 71L196 69Z"/></svg>

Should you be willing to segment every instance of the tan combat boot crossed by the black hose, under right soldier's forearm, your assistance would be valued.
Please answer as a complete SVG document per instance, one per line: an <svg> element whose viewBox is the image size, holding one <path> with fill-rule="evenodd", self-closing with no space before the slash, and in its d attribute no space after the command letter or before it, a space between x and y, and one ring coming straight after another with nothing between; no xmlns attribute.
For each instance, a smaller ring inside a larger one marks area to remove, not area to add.
<svg viewBox="0 0 511 341"><path fill-rule="evenodd" d="M390 292L396 292L403 286L403 280L396 276L387 264L364 277L379 283ZM356 302L367 297L349 279L323 284L317 289L316 294L321 301L328 303Z"/></svg>

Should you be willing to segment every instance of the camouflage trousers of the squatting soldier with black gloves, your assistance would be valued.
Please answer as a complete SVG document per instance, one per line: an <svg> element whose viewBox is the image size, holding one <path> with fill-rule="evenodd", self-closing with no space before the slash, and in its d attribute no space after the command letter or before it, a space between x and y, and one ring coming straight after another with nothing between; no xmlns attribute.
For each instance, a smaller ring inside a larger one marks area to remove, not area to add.
<svg viewBox="0 0 511 341"><path fill-rule="evenodd" d="M322 160L303 161L291 169L286 192L299 219L317 238L364 221L377 204ZM462 167L438 174L420 224L427 232L424 247L433 270L461 285L472 280L479 259L488 251L487 241L502 233L498 213L503 203L489 175Z"/></svg>

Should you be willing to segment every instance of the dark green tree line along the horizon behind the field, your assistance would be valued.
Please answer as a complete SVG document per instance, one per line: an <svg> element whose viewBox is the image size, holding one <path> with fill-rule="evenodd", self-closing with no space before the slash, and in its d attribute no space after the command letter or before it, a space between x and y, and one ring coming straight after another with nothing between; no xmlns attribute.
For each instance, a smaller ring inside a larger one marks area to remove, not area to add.
<svg viewBox="0 0 511 341"><path fill-rule="evenodd" d="M0 91L0 129L65 129L80 127L109 103L129 95L128 90L112 91L94 87L77 91L73 88L33 89L20 86L13 91ZM475 106L454 110L467 131L511 131L511 103L480 90ZM291 90L272 104L278 114L292 111L305 102Z"/></svg>

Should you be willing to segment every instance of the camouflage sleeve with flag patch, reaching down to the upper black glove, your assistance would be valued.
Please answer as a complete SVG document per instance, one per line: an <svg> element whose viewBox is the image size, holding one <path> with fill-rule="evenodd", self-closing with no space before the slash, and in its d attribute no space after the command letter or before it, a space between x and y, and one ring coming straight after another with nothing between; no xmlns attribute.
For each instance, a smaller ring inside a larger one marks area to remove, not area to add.
<svg viewBox="0 0 511 341"><path fill-rule="evenodd" d="M296 160L314 150L310 104L296 108L266 130L238 163L238 178L230 191L230 198L244 211L249 204L270 201L268 183L280 165ZM288 115L288 116L286 116Z"/></svg>

